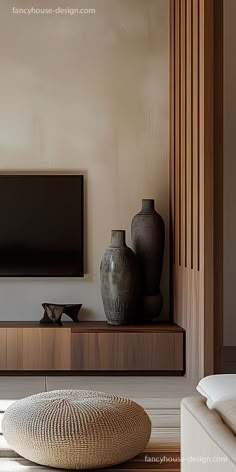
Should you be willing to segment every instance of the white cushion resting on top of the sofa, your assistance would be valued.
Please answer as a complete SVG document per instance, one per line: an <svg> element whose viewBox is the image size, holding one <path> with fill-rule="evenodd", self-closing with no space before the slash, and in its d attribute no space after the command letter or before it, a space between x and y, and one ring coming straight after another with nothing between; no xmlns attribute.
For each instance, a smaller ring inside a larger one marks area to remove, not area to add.
<svg viewBox="0 0 236 472"><path fill-rule="evenodd" d="M200 380L197 391L207 399L208 408L216 402L236 400L236 374L209 375Z"/></svg>

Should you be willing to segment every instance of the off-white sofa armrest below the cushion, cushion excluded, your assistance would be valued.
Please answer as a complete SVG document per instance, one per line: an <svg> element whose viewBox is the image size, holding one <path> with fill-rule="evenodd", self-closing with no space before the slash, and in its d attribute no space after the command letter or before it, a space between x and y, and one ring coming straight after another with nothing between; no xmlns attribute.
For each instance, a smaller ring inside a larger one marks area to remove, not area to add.
<svg viewBox="0 0 236 472"><path fill-rule="evenodd" d="M235 472L236 438L203 397L181 402L182 472Z"/></svg>

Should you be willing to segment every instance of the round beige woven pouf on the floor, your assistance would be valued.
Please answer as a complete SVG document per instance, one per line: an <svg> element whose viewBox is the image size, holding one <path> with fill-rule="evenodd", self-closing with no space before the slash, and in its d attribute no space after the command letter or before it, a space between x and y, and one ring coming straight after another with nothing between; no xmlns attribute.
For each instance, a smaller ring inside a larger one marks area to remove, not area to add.
<svg viewBox="0 0 236 472"><path fill-rule="evenodd" d="M151 422L127 398L88 390L54 390L18 400L4 414L9 446L40 465L108 467L141 453Z"/></svg>

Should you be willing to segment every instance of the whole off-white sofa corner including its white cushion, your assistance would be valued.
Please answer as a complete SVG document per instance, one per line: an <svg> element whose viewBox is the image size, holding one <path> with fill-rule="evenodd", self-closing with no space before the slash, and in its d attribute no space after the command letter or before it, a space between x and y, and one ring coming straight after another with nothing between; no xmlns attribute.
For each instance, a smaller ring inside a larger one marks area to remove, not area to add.
<svg viewBox="0 0 236 472"><path fill-rule="evenodd" d="M236 375L202 379L181 403L181 471L236 472Z"/></svg>

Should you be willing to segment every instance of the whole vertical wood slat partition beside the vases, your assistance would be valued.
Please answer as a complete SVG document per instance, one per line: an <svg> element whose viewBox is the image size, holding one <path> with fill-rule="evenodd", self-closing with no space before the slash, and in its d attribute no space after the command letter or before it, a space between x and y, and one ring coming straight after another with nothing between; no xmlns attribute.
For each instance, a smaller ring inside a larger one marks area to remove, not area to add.
<svg viewBox="0 0 236 472"><path fill-rule="evenodd" d="M222 25L222 0L170 0L172 305L194 382L222 362Z"/></svg>

